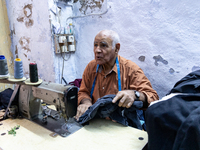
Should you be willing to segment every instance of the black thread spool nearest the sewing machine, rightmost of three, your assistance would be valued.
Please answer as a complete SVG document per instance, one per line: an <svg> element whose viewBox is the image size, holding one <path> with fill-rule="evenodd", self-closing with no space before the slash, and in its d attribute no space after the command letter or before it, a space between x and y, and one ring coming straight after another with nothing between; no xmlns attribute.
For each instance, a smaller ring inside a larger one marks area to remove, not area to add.
<svg viewBox="0 0 200 150"><path fill-rule="evenodd" d="M29 64L30 82L38 82L38 69L36 63Z"/></svg>

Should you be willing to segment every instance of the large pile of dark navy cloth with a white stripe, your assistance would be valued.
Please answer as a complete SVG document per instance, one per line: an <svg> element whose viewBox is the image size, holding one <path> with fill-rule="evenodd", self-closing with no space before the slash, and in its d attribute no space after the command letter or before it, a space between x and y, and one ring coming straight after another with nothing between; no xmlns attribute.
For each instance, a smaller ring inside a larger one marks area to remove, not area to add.
<svg viewBox="0 0 200 150"><path fill-rule="evenodd" d="M200 149L200 70L178 81L146 111L148 150Z"/></svg>

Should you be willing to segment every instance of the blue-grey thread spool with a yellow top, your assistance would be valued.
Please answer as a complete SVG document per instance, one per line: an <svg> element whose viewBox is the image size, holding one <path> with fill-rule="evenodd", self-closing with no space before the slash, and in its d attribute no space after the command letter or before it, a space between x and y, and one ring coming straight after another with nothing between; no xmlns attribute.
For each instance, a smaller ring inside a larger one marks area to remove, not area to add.
<svg viewBox="0 0 200 150"><path fill-rule="evenodd" d="M16 58L14 62L14 77L15 79L21 79L23 78L23 64L21 59Z"/></svg>

